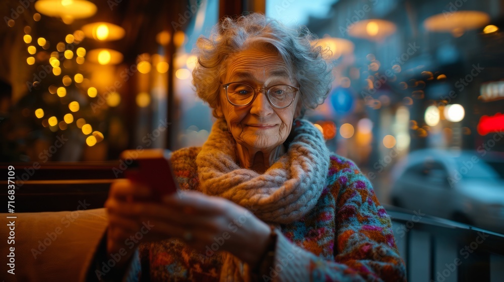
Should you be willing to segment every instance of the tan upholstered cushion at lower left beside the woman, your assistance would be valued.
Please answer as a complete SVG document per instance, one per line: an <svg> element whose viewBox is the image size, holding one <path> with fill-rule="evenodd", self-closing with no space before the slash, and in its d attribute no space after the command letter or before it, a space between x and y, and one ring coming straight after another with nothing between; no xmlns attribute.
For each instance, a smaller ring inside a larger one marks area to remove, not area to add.
<svg viewBox="0 0 504 282"><path fill-rule="evenodd" d="M2 240L9 237L9 221L15 221L15 243L7 244L15 248L15 275L7 272L4 254L0 271L6 281L78 281L107 226L104 208L0 214Z"/></svg>

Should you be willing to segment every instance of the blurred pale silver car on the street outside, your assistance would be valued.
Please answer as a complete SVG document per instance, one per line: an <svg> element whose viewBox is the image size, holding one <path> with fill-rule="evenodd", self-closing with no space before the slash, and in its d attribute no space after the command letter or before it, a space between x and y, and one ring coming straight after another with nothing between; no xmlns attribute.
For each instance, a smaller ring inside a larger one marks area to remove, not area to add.
<svg viewBox="0 0 504 282"><path fill-rule="evenodd" d="M393 205L504 233L504 180L476 151L425 149L392 171Z"/></svg>

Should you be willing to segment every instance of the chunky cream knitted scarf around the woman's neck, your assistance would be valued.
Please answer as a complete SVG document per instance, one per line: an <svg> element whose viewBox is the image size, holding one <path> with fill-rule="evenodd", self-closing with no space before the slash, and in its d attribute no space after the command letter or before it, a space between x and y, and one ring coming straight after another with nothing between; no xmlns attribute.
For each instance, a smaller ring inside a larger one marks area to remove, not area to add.
<svg viewBox="0 0 504 282"><path fill-rule="evenodd" d="M301 219L326 184L329 150L319 129L303 119L294 120L287 143L287 153L264 174L240 168L236 142L218 119L196 159L203 192L247 207L268 223Z"/></svg>

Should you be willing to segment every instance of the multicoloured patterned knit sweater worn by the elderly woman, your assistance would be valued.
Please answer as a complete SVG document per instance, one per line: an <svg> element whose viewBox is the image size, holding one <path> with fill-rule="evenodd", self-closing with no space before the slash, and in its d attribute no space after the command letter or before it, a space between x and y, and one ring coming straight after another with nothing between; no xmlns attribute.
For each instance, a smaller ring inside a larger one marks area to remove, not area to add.
<svg viewBox="0 0 504 282"><path fill-rule="evenodd" d="M201 148L173 153L182 190L198 190ZM304 219L279 226L274 265L261 281L405 281L391 221L368 179L350 160L331 155L327 186ZM139 245L128 281L219 281L223 254L207 256L178 239ZM242 269L243 270L243 269ZM244 281L250 280L243 273ZM268 275L269 274L269 275Z"/></svg>

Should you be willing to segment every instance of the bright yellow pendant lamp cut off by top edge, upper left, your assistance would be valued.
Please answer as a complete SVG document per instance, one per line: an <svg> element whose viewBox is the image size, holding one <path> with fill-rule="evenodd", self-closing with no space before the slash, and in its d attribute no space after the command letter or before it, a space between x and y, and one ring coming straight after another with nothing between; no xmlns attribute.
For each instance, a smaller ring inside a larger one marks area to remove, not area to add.
<svg viewBox="0 0 504 282"><path fill-rule="evenodd" d="M59 17L68 24L73 19L85 19L96 13L96 5L86 0L38 0L35 10L50 17Z"/></svg>

